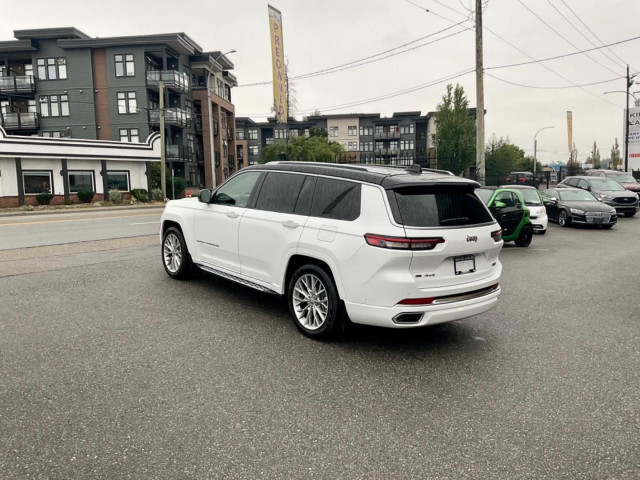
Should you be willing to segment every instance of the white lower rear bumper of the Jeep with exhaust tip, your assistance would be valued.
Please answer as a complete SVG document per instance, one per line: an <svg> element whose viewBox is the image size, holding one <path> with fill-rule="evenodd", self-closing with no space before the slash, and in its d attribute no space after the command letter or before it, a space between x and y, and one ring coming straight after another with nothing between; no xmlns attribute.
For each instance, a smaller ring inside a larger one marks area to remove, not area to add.
<svg viewBox="0 0 640 480"><path fill-rule="evenodd" d="M491 310L498 303L501 289L470 300L462 300L443 305L376 307L345 301L347 314L353 323L387 328L414 328L438 323L452 322ZM394 318L401 314L418 314L414 323L396 323Z"/></svg>

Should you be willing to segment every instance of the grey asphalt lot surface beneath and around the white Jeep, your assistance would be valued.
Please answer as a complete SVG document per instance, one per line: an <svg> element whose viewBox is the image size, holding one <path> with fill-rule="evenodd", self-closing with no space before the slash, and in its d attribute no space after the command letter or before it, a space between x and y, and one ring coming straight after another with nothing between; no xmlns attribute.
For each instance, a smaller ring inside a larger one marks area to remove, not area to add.
<svg viewBox="0 0 640 480"><path fill-rule="evenodd" d="M637 479L639 236L551 225L496 309L334 343L156 236L0 252L0 478Z"/></svg>

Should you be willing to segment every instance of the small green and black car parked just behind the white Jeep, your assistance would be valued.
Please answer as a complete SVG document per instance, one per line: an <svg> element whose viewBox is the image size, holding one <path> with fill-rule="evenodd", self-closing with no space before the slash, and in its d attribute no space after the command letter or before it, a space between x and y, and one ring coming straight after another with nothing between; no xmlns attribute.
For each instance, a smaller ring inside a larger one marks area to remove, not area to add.
<svg viewBox="0 0 640 480"><path fill-rule="evenodd" d="M489 211L502 227L502 239L528 247L533 238L533 225L522 193L515 188L482 187L476 189Z"/></svg>

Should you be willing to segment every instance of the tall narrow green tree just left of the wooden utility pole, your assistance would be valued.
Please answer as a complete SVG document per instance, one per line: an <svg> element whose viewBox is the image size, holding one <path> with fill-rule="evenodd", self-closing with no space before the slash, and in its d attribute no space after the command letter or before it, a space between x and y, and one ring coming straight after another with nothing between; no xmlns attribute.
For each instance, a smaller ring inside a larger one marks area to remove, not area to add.
<svg viewBox="0 0 640 480"><path fill-rule="evenodd" d="M469 100L464 89L447 85L436 112L435 144L438 168L461 173L475 163L476 126L469 114Z"/></svg>

